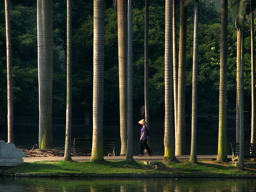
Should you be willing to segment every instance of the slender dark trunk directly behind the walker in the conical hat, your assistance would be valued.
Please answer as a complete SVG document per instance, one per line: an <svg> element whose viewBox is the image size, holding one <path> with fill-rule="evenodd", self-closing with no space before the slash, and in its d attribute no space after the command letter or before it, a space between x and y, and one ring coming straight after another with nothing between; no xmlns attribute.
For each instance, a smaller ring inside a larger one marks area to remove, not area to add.
<svg viewBox="0 0 256 192"><path fill-rule="evenodd" d="M149 122L149 93L148 93L148 0L145 0L145 81L144 81L144 92L145 92L145 120L148 123L147 128L150 130ZM148 136L148 146L150 147L150 137ZM146 152L146 150L145 150Z"/></svg>

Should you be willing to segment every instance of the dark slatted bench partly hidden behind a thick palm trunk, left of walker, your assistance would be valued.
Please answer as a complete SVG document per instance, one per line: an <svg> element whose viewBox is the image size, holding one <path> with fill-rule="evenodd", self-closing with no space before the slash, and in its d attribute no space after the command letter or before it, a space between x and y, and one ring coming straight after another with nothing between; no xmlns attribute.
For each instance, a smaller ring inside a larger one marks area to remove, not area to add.
<svg viewBox="0 0 256 192"><path fill-rule="evenodd" d="M115 156L115 141L113 139L103 139L103 154L107 156ZM87 156L92 155L92 139L74 138L74 152L87 153Z"/></svg>

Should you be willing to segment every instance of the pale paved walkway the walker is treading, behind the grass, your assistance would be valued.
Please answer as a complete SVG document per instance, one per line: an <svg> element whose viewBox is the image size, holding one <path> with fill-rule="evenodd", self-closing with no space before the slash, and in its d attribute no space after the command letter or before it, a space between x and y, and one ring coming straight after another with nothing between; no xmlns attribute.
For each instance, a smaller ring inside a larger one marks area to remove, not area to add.
<svg viewBox="0 0 256 192"><path fill-rule="evenodd" d="M184 156L176 156L177 159L182 159L182 160L189 160L189 155L184 155ZM197 160L216 160L217 155L209 155L209 156L204 156L204 155L198 155ZM228 158L231 158L231 156L228 156ZM88 161L91 159L91 156L73 156L72 160L73 161L79 161L79 162L84 162ZM115 160L124 160L125 156L104 156L105 160L109 161L115 161ZM164 156L133 156L133 159L139 160L139 161L161 161L164 159ZM63 157L23 157L24 162L36 162L36 161L59 161L63 160Z"/></svg>

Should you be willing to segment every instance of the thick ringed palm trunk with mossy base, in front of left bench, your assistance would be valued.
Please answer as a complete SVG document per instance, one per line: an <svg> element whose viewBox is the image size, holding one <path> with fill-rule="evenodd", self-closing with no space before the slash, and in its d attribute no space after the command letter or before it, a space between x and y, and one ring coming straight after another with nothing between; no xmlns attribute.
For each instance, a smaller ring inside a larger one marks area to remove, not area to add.
<svg viewBox="0 0 256 192"><path fill-rule="evenodd" d="M93 1L93 134L91 161L103 157L104 0Z"/></svg>

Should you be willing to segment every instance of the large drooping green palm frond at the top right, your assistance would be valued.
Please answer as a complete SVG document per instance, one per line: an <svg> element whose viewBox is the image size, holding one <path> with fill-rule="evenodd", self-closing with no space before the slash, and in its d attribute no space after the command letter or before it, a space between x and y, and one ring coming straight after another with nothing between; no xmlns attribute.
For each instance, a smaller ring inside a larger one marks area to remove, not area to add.
<svg viewBox="0 0 256 192"><path fill-rule="evenodd" d="M230 3L231 18L234 21L236 28L241 30L244 26L245 10L249 0L231 0Z"/></svg>

